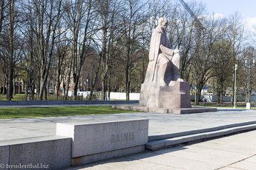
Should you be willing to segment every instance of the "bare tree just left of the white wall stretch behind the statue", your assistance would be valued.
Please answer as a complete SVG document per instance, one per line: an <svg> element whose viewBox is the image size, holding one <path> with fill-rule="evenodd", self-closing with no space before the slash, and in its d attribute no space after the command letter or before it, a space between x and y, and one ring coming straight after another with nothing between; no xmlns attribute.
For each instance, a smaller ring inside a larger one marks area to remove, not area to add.
<svg viewBox="0 0 256 170"><path fill-rule="evenodd" d="M120 35L122 34L122 23L119 21L119 13L122 12L122 1L119 0L107 0L97 1L97 13L99 32L98 51L100 54L101 65L101 84L102 84L102 99L107 99L108 82L110 78L111 68L114 66L114 58L119 53L117 47L119 47ZM110 90L108 90L110 91Z"/></svg>

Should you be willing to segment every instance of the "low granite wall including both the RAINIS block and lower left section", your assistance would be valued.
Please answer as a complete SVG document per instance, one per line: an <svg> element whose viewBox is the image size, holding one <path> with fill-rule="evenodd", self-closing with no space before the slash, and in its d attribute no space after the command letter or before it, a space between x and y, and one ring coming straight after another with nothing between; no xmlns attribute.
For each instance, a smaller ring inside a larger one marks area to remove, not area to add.
<svg viewBox="0 0 256 170"><path fill-rule="evenodd" d="M57 123L56 135L0 141L0 169L65 169L145 151L148 119Z"/></svg>

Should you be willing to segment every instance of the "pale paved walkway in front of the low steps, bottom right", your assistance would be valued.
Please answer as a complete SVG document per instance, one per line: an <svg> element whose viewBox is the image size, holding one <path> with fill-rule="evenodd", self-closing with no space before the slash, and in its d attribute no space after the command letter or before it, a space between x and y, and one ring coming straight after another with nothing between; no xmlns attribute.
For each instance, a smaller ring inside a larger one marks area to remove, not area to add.
<svg viewBox="0 0 256 170"><path fill-rule="evenodd" d="M145 152L69 170L256 169L256 131L203 143Z"/></svg>

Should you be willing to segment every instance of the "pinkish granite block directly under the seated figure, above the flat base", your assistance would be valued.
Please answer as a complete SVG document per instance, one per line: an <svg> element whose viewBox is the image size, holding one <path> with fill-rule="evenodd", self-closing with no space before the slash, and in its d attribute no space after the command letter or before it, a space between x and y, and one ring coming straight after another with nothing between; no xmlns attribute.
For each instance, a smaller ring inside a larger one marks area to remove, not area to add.
<svg viewBox="0 0 256 170"><path fill-rule="evenodd" d="M169 86L142 84L139 105L149 108L191 108L190 85L186 81L171 81Z"/></svg>

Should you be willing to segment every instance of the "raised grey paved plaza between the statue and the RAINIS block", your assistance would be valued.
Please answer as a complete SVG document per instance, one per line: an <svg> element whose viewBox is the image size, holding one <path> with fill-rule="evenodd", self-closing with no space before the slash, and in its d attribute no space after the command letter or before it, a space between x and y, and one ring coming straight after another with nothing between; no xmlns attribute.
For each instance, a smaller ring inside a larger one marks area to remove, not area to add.
<svg viewBox="0 0 256 170"><path fill-rule="evenodd" d="M56 123L97 123L131 119L148 119L148 135L153 136L256 121L256 111L243 109L218 109L218 112L204 112L190 115L135 112L114 115L1 119L0 140L55 135Z"/></svg>

